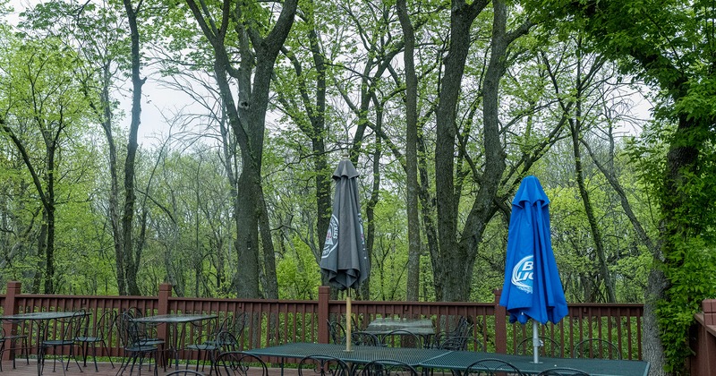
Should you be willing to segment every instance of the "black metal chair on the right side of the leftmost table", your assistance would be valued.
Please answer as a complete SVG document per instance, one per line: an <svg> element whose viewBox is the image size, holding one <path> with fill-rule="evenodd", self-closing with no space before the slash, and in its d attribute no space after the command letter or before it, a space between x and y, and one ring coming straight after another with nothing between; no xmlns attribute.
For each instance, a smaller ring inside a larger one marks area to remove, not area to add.
<svg viewBox="0 0 716 376"><path fill-rule="evenodd" d="M74 355L74 338L77 338L81 333L82 323L87 317L87 313L84 310L74 312L72 316L55 320L55 328L53 331L57 333L55 338L47 339L49 331L49 322L47 325L41 326L40 330L45 330L44 333L40 333L38 338L46 338L40 342L38 346L38 363L40 373L45 369L45 359L47 358L47 351L51 348L53 355L52 372L55 372L57 365L57 349L60 350L60 364L62 366L63 374L66 374L67 369L70 367L70 357L74 358L74 363L77 364L77 368L82 371L80 363L77 361L77 356ZM69 348L67 355L67 365L64 365L64 347Z"/></svg>

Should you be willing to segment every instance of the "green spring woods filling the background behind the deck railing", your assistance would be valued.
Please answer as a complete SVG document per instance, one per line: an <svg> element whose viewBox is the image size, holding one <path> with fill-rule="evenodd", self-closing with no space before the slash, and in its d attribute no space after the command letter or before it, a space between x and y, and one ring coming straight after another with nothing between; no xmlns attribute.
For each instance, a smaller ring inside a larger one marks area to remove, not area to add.
<svg viewBox="0 0 716 376"><path fill-rule="evenodd" d="M491 301L536 175L567 301L644 302L653 374L681 371L714 295L713 2L26 5L0 29L0 286L315 298L347 151L360 298ZM190 99L148 121L152 85Z"/></svg>

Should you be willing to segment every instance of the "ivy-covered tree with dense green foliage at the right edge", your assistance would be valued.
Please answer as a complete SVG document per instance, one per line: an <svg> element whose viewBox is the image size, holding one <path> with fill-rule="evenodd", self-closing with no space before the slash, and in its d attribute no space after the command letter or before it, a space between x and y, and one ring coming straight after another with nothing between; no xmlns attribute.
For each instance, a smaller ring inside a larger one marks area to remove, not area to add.
<svg viewBox="0 0 716 376"><path fill-rule="evenodd" d="M710 1L560 1L533 6L541 20L568 21L590 47L658 91L656 132L635 149L661 206L659 244L644 307L644 357L654 374L680 372L687 330L713 273L709 227L716 123L714 4Z"/></svg>

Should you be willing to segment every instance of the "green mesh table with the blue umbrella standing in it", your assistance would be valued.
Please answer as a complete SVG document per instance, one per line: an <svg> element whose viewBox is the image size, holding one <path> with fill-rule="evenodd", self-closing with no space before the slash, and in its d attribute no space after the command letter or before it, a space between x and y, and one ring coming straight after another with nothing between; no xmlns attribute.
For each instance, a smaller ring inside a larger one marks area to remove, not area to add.
<svg viewBox="0 0 716 376"><path fill-rule="evenodd" d="M550 368L574 368L592 376L647 376L649 374L649 363L644 361L540 357L540 363L535 364L532 356L472 351L451 351L420 365L424 368L461 371L483 359L499 359L511 363L524 374L537 374Z"/></svg>

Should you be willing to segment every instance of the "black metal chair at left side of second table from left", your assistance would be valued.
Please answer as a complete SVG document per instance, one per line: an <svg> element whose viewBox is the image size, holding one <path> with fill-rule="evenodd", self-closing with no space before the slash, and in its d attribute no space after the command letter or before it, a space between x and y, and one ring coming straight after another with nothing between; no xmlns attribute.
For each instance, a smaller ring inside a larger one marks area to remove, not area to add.
<svg viewBox="0 0 716 376"><path fill-rule="evenodd" d="M130 374L134 370L134 365L139 362L139 373L141 374L141 366L144 359L154 359L154 375L158 375L159 364L159 347L153 343L147 343L140 336L140 328L136 322L132 320L129 312L123 312L116 320L117 332L119 333L120 345L124 349L124 358L117 372L117 375L124 374L124 371L132 364ZM151 364L151 362L149 363Z"/></svg>

